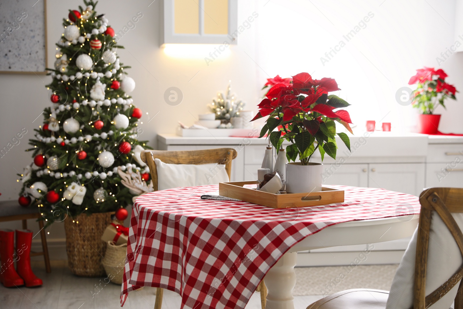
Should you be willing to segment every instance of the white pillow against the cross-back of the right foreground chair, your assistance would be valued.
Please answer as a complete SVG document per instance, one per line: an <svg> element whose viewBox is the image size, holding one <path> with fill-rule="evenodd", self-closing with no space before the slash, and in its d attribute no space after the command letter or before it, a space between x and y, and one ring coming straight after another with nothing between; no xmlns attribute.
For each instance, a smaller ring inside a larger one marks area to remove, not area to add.
<svg viewBox="0 0 463 309"><path fill-rule="evenodd" d="M463 214L452 214L458 227L463 230ZM431 231L429 233L428 261L426 268L426 296L445 283L462 265L463 259L457 243L436 212L432 213ZM409 309L413 305L413 284L415 275L415 257L418 228L400 262L392 281L386 309ZM449 309L458 285L439 299L428 309Z"/></svg>

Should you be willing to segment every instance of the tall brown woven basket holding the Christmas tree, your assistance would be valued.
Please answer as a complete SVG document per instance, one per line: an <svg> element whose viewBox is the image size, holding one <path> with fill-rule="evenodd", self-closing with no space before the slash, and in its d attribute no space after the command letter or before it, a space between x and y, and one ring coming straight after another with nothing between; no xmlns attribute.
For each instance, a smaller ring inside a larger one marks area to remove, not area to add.
<svg viewBox="0 0 463 309"><path fill-rule="evenodd" d="M105 275L101 259L106 243L101 241L101 235L112 222L111 214L114 213L80 214L64 220L68 265L73 274L81 277Z"/></svg>

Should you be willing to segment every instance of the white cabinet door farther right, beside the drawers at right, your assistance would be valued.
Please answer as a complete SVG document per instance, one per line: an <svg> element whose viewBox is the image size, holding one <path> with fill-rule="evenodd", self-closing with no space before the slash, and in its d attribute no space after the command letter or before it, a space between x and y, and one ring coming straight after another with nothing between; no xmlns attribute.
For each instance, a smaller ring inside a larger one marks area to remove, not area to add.
<svg viewBox="0 0 463 309"><path fill-rule="evenodd" d="M369 164L369 187L418 196L425 187L424 163Z"/></svg>

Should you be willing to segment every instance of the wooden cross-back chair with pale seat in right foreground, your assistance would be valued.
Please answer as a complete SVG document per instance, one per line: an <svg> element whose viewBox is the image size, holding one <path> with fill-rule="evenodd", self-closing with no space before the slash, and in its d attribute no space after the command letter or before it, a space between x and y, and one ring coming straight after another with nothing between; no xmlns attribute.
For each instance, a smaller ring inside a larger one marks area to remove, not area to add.
<svg viewBox="0 0 463 309"><path fill-rule="evenodd" d="M413 309L425 309L432 306L457 284L459 286L455 298L455 309L463 309L463 284L461 284L463 280L460 280L463 276L463 265L438 289L427 296L425 294L429 234L431 216L434 211L444 221L463 257L463 233L451 215L451 213L463 213L463 189L431 188L421 193L419 202L421 204L421 213L417 234ZM386 308L388 295L388 291L382 290L344 290L320 299L309 305L307 309Z"/></svg>

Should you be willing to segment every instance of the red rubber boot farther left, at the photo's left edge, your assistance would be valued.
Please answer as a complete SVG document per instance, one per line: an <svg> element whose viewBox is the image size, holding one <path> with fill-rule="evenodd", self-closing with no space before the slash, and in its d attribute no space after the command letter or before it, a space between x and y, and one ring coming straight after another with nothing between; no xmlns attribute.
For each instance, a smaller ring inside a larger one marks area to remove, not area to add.
<svg viewBox="0 0 463 309"><path fill-rule="evenodd" d="M0 230L0 282L7 288L24 285L14 270L14 231Z"/></svg>

